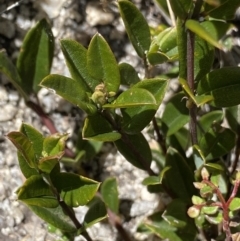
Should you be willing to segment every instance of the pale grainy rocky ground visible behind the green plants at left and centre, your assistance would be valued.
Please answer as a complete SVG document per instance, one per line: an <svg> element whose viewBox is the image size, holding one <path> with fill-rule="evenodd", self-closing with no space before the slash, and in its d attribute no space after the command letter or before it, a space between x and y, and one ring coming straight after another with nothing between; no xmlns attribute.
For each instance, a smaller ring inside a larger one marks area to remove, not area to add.
<svg viewBox="0 0 240 241"><path fill-rule="evenodd" d="M160 12L152 1L134 2L152 26L162 20L168 21L161 19ZM15 8L3 12L14 3L12 0L0 0L0 49L6 49L13 62L16 61L26 32L45 17L52 24L56 40L52 73L69 75L59 49L59 39L76 39L87 47L96 32L100 32L107 39L119 61L131 63L142 73L139 59L127 39L114 1L100 3L98 0L22 0ZM39 92L39 99L58 131L67 132L74 139L75 130L82 125L82 112L45 89ZM22 122L48 133L39 117L26 107L9 80L0 75L0 240L57 240L59 236L49 233L46 223L16 201L15 191L22 185L24 178L19 170L16 150L4 135L18 130ZM72 146L71 142L69 146ZM117 177L123 226L131 234L135 233L135 240L155 240L136 234L137 225L154 209L164 205L159 203L159 197L149 194L142 186L141 182L146 174L124 161L110 144L105 145L101 153L103 155L89 165L92 171L98 172L101 168L99 179L107 176ZM85 208L76 209L79 220L85 212ZM89 233L94 241L122 240L116 230L107 223L96 224ZM75 240L84 239L77 237Z"/></svg>

